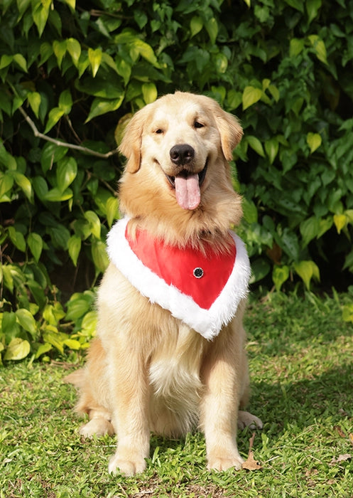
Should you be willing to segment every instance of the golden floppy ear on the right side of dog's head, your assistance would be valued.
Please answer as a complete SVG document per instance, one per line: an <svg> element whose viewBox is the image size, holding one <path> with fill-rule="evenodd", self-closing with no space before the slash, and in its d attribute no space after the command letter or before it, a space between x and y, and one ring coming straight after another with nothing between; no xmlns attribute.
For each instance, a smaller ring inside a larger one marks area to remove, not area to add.
<svg viewBox="0 0 353 498"><path fill-rule="evenodd" d="M237 117L225 112L219 107L214 113L219 134L221 135L221 145L224 157L227 161L233 159L233 149L237 147L243 136L243 129Z"/></svg>

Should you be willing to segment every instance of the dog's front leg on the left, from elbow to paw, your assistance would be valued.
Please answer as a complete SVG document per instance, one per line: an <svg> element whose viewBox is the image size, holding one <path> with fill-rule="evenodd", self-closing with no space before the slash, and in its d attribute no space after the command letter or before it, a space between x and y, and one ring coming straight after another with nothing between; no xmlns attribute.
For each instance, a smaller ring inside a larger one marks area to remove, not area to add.
<svg viewBox="0 0 353 498"><path fill-rule="evenodd" d="M109 352L112 422L118 436L109 472L134 475L146 469L149 455L148 376L146 364L129 346Z"/></svg>

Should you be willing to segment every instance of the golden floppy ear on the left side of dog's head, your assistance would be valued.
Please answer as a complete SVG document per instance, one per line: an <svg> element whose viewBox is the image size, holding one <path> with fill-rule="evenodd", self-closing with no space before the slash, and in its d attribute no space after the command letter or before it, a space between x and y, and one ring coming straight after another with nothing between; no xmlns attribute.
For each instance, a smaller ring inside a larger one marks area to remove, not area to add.
<svg viewBox="0 0 353 498"><path fill-rule="evenodd" d="M129 173L136 173L140 169L143 111L144 108L136 112L126 124L123 139L118 147L119 152L127 159L125 169Z"/></svg>

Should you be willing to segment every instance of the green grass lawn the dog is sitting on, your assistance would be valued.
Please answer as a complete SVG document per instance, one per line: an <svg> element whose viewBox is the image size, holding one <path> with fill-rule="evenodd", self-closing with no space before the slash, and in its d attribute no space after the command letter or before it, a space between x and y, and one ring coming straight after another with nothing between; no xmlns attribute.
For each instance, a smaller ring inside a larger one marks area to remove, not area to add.
<svg viewBox="0 0 353 498"><path fill-rule="evenodd" d="M252 297L246 317L256 432L253 472L205 470L199 433L152 438L143 475L107 472L115 439L83 440L67 364L0 370L0 497L353 497L353 326L348 295ZM246 457L251 431L238 435Z"/></svg>

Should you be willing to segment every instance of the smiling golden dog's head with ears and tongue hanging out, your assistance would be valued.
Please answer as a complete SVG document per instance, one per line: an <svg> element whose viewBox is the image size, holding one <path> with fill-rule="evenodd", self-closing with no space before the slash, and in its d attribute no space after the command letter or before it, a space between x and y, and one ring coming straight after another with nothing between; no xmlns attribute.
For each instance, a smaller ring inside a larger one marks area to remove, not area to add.
<svg viewBox="0 0 353 498"><path fill-rule="evenodd" d="M126 174L148 169L151 183L163 176L178 205L195 210L212 177L222 174L220 169L232 159L241 136L237 118L215 100L175 92L136 112L119 151L128 159Z"/></svg>

